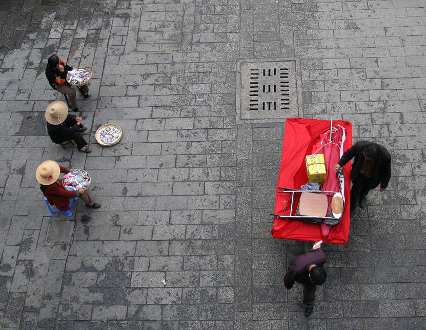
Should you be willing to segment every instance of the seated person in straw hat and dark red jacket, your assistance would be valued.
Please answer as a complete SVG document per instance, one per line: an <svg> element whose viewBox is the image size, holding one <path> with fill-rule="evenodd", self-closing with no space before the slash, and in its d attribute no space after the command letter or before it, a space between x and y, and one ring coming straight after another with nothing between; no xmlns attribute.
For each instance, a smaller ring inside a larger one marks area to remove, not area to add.
<svg viewBox="0 0 426 330"><path fill-rule="evenodd" d="M67 190L65 189L62 180L58 180L59 173L72 172L64 166L60 166L54 161L45 161L38 165L35 171L35 177L40 183L40 190L47 198L50 205L55 205L60 211L70 209L69 200L74 197L80 198L86 203L86 206L99 208L100 204L95 203L95 199L84 189Z"/></svg>

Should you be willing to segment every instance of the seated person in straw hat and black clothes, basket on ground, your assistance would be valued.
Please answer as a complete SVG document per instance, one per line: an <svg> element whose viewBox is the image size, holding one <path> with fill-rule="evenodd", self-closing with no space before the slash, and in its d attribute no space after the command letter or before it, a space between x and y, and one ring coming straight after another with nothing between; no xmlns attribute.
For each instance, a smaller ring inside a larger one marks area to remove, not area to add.
<svg viewBox="0 0 426 330"><path fill-rule="evenodd" d="M45 113L47 133L54 143L62 143L74 140L77 148L82 152L92 152L87 146L87 142L80 133L87 130L82 125L83 118L68 114L68 107L62 101L53 101L46 109Z"/></svg>

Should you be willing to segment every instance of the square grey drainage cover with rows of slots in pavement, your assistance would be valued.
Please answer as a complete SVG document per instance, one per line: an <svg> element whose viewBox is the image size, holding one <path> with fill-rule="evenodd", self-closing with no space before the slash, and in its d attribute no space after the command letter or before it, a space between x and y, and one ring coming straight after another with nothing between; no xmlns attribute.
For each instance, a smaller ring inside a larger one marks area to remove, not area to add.
<svg viewBox="0 0 426 330"><path fill-rule="evenodd" d="M241 120L297 117L295 61L242 62Z"/></svg>

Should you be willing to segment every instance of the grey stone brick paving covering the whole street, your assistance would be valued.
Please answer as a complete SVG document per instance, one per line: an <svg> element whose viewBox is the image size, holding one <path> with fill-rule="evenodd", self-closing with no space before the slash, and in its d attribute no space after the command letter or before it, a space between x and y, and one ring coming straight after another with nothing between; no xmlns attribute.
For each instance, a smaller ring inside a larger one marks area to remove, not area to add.
<svg viewBox="0 0 426 330"><path fill-rule="evenodd" d="M2 0L0 31L2 329L426 328L424 0ZM91 154L46 135L52 53L93 72ZM295 64L294 107L241 110L256 61ZM285 118L331 115L393 177L326 246L307 320L282 278L310 243L271 238L269 213ZM107 122L124 134L102 148ZM50 217L48 159L103 207Z"/></svg>

